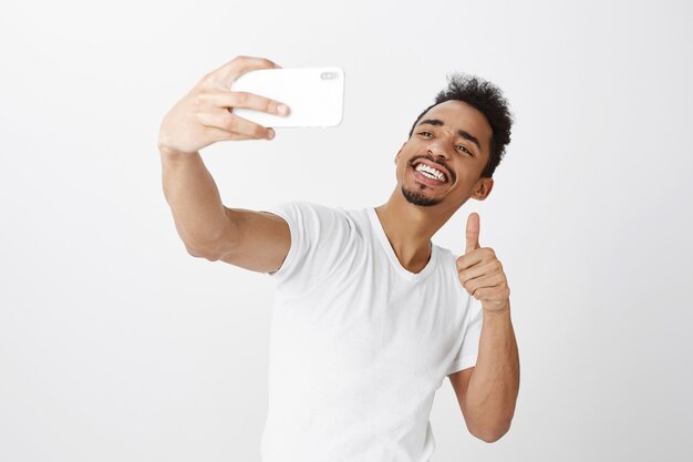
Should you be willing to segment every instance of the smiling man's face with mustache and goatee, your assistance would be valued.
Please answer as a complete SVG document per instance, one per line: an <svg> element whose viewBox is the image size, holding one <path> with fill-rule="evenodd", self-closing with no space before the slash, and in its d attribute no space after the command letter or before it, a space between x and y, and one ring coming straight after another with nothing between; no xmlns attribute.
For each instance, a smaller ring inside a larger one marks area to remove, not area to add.
<svg viewBox="0 0 693 462"><path fill-rule="evenodd" d="M457 209L469 197L483 201L493 187L480 178L493 131L484 114L462 101L426 112L395 157L397 187L412 204Z"/></svg>

